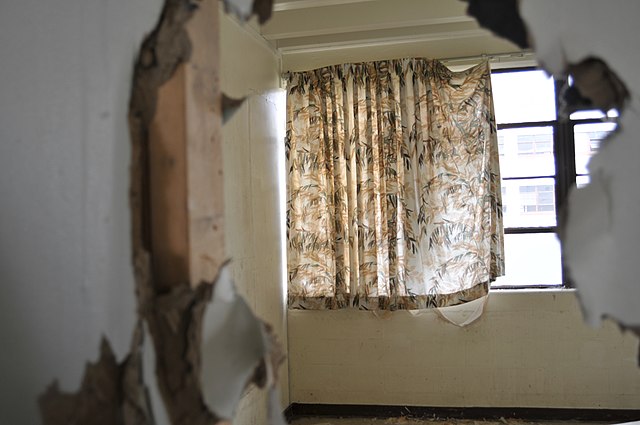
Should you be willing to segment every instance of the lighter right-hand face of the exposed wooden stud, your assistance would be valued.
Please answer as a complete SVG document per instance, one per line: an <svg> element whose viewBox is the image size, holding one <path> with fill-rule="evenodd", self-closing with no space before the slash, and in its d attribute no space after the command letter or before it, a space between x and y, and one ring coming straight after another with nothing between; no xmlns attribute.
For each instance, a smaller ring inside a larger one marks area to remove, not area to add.
<svg viewBox="0 0 640 425"><path fill-rule="evenodd" d="M187 26L185 75L190 282L211 282L225 260L218 2L200 3Z"/></svg>

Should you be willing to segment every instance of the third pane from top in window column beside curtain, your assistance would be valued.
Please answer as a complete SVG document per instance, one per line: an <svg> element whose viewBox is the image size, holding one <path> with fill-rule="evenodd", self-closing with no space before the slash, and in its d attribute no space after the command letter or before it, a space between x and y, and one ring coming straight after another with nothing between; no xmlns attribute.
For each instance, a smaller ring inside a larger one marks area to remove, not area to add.
<svg viewBox="0 0 640 425"><path fill-rule="evenodd" d="M555 179L502 181L504 227L556 225Z"/></svg>

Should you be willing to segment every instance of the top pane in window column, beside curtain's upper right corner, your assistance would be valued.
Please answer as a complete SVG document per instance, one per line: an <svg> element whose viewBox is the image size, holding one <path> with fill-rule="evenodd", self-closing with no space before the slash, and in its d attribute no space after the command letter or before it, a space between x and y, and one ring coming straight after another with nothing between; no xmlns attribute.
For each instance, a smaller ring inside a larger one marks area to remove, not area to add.
<svg viewBox="0 0 640 425"><path fill-rule="evenodd" d="M544 71L493 73L491 86L498 124L556 117L553 79Z"/></svg>

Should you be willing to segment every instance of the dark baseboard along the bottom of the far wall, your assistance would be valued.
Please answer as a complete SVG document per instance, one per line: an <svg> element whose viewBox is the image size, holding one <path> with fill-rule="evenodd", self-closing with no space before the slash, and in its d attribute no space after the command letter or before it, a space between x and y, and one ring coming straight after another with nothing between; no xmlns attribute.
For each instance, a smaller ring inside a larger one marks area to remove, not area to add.
<svg viewBox="0 0 640 425"><path fill-rule="evenodd" d="M425 407L366 404L292 403L285 410L288 421L302 417L361 417L416 419L521 419L529 421L631 422L640 420L640 409L558 409L537 407Z"/></svg>

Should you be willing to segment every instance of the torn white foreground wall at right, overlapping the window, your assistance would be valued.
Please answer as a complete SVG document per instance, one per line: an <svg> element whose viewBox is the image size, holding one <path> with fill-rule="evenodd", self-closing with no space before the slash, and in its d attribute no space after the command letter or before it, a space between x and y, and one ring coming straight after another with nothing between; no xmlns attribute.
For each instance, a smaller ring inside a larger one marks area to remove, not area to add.
<svg viewBox="0 0 640 425"><path fill-rule="evenodd" d="M603 316L640 325L640 2L523 0L536 55L556 76L574 74L585 97L618 107L618 131L589 164L591 184L573 190L562 239L570 275L592 325Z"/></svg>

